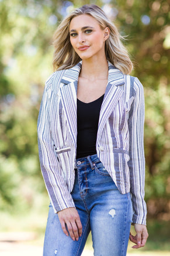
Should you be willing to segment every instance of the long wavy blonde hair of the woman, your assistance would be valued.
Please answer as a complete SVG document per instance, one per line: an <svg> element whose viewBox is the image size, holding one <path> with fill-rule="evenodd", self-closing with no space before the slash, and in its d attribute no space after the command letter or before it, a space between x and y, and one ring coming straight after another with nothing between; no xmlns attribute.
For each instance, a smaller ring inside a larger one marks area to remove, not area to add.
<svg viewBox="0 0 170 256"><path fill-rule="evenodd" d="M81 14L91 15L99 22L101 29L105 29L106 27L110 29L109 38L105 42L106 59L124 74L130 74L133 69L133 64L126 48L121 42L123 37L118 32L115 24L109 21L105 12L97 5L83 5L81 8L75 9L75 11L71 12L70 15L60 23L57 30L55 30L53 40L55 49L53 55L54 71L70 69L81 60L70 43L69 33L71 20Z"/></svg>

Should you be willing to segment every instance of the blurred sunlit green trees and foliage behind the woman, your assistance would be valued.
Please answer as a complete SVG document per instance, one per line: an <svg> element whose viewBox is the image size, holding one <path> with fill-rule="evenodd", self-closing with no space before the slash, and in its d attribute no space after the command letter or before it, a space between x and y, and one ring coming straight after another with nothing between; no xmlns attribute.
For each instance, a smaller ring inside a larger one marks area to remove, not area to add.
<svg viewBox="0 0 170 256"><path fill-rule="evenodd" d="M9 239L8 234L25 231L29 243L43 245L49 199L39 166L37 116L44 83L53 72L54 30L83 4L102 7L127 36L132 75L144 86L150 236L141 252L166 255L170 252L169 0L0 0L0 240L15 241L16 235Z"/></svg>

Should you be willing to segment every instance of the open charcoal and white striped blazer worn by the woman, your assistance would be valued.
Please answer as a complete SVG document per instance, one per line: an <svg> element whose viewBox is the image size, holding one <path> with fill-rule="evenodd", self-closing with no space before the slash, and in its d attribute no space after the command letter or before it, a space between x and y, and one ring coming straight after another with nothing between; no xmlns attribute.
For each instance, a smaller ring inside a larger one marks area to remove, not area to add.
<svg viewBox="0 0 170 256"><path fill-rule="evenodd" d="M136 77L108 62L96 152L120 193L131 192L133 223L145 224L144 92ZM77 84L81 62L46 81L38 118L41 171L55 213L75 207L71 197L77 150Z"/></svg>

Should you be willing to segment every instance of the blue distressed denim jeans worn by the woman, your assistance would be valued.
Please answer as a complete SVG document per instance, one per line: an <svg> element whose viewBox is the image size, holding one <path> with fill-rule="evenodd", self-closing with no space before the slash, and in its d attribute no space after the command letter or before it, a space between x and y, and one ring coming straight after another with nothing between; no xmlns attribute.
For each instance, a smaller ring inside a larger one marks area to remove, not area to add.
<svg viewBox="0 0 170 256"><path fill-rule="evenodd" d="M77 159L71 194L82 236L78 241L67 237L50 204L43 256L81 255L90 231L95 256L126 255L133 214L130 193L119 192L97 155Z"/></svg>

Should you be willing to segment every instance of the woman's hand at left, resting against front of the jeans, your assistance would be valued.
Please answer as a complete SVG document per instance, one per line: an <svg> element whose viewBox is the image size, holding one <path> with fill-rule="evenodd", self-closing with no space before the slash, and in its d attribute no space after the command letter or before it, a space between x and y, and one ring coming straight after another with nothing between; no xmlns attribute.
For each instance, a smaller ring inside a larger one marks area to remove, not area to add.
<svg viewBox="0 0 170 256"><path fill-rule="evenodd" d="M72 240L78 241L78 238L82 235L82 224L79 219L78 211L74 207L70 207L61 211L58 211L58 218L61 223L63 232L68 236L68 232ZM65 227L67 225L67 229Z"/></svg>

